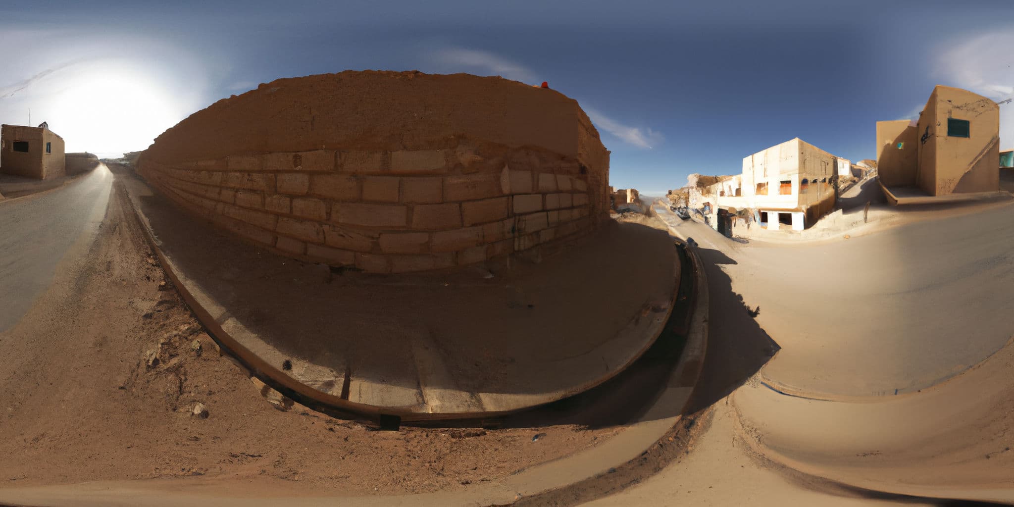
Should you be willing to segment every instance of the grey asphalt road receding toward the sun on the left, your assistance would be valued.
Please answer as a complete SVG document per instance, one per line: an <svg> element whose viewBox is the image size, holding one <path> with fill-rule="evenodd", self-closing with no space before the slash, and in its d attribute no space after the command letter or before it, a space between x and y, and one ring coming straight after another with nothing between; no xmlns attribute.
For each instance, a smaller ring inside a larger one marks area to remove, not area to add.
<svg viewBox="0 0 1014 507"><path fill-rule="evenodd" d="M57 265L98 227L112 185L100 165L60 189L0 201L0 333L21 319Z"/></svg>

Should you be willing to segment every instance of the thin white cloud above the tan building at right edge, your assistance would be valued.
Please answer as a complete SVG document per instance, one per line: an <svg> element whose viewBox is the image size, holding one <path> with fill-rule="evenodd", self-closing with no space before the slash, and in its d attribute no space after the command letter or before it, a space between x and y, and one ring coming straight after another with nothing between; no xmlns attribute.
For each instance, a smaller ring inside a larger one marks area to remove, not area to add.
<svg viewBox="0 0 1014 507"><path fill-rule="evenodd" d="M937 77L1000 101L1014 95L1014 29L949 41ZM1014 147L1014 103L1000 106L1000 147Z"/></svg>

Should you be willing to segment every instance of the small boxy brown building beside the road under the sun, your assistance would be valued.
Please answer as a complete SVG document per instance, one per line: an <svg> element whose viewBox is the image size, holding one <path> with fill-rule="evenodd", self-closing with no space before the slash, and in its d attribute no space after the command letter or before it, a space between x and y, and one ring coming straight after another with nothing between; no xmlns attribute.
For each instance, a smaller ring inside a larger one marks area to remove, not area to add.
<svg viewBox="0 0 1014 507"><path fill-rule="evenodd" d="M65 163L63 138L49 128L0 126L0 172L49 179L63 176Z"/></svg>

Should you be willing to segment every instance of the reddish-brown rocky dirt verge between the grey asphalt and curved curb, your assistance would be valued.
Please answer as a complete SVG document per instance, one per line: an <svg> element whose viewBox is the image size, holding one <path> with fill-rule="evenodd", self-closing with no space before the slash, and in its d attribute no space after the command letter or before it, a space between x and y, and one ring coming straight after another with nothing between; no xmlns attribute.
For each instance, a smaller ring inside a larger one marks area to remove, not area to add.
<svg viewBox="0 0 1014 507"><path fill-rule="evenodd" d="M114 188L94 240L69 252L24 318L0 333L3 487L187 477L237 492L251 481L303 494L453 491L619 431L379 432L298 405L277 410L164 285L124 205ZM207 419L192 415L198 403Z"/></svg>

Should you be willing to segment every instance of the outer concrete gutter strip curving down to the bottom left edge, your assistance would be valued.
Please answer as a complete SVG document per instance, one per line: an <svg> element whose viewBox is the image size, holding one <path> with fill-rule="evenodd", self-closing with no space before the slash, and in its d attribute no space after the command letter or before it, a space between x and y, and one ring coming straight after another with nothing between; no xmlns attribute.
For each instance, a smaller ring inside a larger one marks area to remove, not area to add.
<svg viewBox="0 0 1014 507"><path fill-rule="evenodd" d="M686 341L683 351L669 375L665 390L645 414L617 436L590 449L518 470L479 488L455 492L369 497L293 497L275 488L274 497L259 495L256 491L247 492L243 497L236 497L234 488L216 487L215 478L191 478L6 488L0 489L0 502L52 507L136 505L185 507L207 503L209 500L223 507L274 507L279 502L293 507L323 507L336 505L336 502L346 507L487 506L510 505L519 498L566 488L580 482L595 481L599 478L606 480L611 468L636 465L647 449L659 444L664 436L679 424L682 412L686 409L700 380L705 354L708 351L708 279L704 264L694 248L686 246L681 239L676 238L676 240L693 266L693 270L689 270L692 273L683 272L693 277L693 288L685 299L692 309L687 322L684 323ZM155 248L155 251L159 250ZM163 264L163 267L168 273L168 266ZM188 304L191 304L189 300ZM192 309L196 312L198 308L192 306ZM671 413L672 407L680 407L680 414L673 417L658 417L659 414Z"/></svg>

